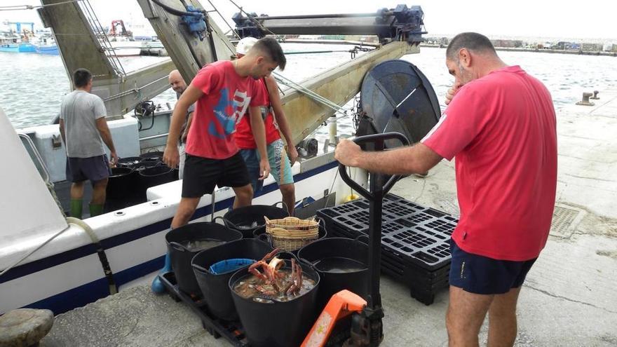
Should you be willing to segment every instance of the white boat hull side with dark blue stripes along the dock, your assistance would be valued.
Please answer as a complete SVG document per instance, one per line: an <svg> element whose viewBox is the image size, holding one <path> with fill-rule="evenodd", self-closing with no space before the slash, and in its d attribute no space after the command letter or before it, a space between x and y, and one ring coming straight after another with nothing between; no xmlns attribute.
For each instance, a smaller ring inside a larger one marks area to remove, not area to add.
<svg viewBox="0 0 617 347"><path fill-rule="evenodd" d="M332 159L294 175L297 195L323 196L324 189L332 187L337 168L337 162ZM233 191L219 189L216 196L215 216L222 216L233 204ZM202 198L204 200L205 203L196 210L193 222L210 220L212 205L208 197ZM122 210L121 215L116 211L86 219L97 235L111 230L125 230L101 240L116 285L121 286L163 267L165 233L169 231L177 209L177 201L168 201L165 198L157 199L128 207ZM271 182L264 186L253 203L273 205L279 201L278 186ZM53 243L48 247L53 247ZM85 244L8 271L0 278L0 314L14 308L28 307L50 309L57 315L108 295L109 285L95 247Z"/></svg>

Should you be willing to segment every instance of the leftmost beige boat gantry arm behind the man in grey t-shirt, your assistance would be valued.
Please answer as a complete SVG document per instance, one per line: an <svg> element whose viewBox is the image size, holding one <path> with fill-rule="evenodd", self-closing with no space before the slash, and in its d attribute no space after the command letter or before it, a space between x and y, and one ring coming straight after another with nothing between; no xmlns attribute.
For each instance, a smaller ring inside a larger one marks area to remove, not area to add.
<svg viewBox="0 0 617 347"><path fill-rule="evenodd" d="M41 0L43 6L61 2L66 1ZM37 11L43 26L52 29L69 81L76 69L90 70L94 76L92 93L104 100L109 116L126 114L169 88L167 75L175 69L171 60L124 72L88 1L44 6ZM69 88L73 89L72 83Z"/></svg>

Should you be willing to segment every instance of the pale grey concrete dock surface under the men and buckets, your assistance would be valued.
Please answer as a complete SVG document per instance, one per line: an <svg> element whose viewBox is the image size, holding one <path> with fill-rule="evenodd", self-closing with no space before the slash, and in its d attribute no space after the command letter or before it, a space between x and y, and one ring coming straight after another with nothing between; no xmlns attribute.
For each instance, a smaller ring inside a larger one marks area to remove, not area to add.
<svg viewBox="0 0 617 347"><path fill-rule="evenodd" d="M592 107L557 109L557 208L520 294L515 346L617 346L617 90L601 90L600 97ZM453 162L426 178L402 179L392 193L458 214ZM447 346L447 290L425 306L382 276L381 297L382 346ZM486 340L487 324L480 343ZM181 302L139 285L58 315L41 341L50 346L231 344L210 336Z"/></svg>

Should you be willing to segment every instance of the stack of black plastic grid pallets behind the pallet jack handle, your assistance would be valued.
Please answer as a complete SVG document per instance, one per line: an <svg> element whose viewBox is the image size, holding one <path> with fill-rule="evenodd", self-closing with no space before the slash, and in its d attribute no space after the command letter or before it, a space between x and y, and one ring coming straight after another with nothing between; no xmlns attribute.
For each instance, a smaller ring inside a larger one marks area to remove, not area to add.
<svg viewBox="0 0 617 347"><path fill-rule="evenodd" d="M360 238L367 236L368 210L369 202L361 199L317 215L328 236ZM381 218L382 273L407 285L414 299L432 304L435 294L449 285L449 242L457 219L393 194L384 197Z"/></svg>

